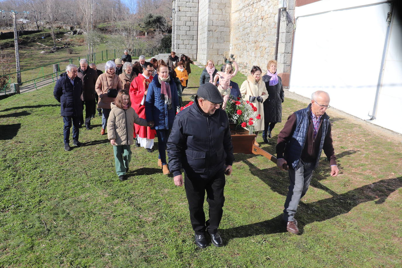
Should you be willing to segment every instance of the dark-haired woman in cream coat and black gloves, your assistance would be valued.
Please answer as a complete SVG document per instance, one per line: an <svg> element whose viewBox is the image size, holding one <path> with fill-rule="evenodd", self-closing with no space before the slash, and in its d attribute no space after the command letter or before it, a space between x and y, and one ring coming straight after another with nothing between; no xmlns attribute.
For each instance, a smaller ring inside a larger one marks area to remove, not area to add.
<svg viewBox="0 0 402 268"><path fill-rule="evenodd" d="M258 131L264 130L264 106L263 102L268 98L267 88L265 83L261 79L261 68L253 66L251 68L251 75L247 76L247 80L243 82L240 87L240 93L244 94L244 100L250 101L257 107L257 114L261 115L261 120L258 120L258 124L254 127L256 135Z"/></svg>

